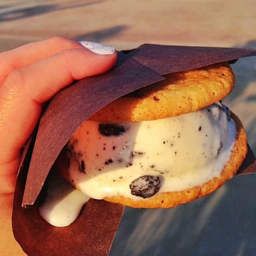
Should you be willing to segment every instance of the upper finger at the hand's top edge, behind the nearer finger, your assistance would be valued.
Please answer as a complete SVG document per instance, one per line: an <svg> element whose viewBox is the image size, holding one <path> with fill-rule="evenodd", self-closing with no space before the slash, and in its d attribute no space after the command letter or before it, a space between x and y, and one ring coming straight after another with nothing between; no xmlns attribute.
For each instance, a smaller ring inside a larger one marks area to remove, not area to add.
<svg viewBox="0 0 256 256"><path fill-rule="evenodd" d="M0 85L12 71L72 48L82 46L74 40L56 36L0 53Z"/></svg>

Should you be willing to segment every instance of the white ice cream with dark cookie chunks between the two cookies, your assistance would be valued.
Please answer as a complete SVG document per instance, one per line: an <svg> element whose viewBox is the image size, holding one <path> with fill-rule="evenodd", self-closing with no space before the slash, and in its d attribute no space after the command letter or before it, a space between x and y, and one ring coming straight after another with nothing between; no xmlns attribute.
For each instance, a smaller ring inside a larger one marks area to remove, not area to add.
<svg viewBox="0 0 256 256"><path fill-rule="evenodd" d="M143 200L219 176L236 136L216 103L170 118L102 124L85 121L67 144L69 180L89 197Z"/></svg>

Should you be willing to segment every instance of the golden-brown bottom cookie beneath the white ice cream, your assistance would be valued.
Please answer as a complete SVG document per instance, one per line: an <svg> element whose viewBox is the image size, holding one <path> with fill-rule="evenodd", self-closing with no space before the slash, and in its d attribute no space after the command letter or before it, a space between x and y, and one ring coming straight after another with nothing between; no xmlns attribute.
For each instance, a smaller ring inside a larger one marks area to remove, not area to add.
<svg viewBox="0 0 256 256"><path fill-rule="evenodd" d="M170 208L212 193L236 174L247 154L246 132L244 131L241 121L234 113L231 113L231 117L236 123L236 141L232 149L230 160L224 166L220 177L215 177L202 184L202 186L196 186L178 192L164 192L154 198L148 198L146 200L134 201L130 198L124 198L123 196L107 197L104 198L104 200L134 208Z"/></svg>

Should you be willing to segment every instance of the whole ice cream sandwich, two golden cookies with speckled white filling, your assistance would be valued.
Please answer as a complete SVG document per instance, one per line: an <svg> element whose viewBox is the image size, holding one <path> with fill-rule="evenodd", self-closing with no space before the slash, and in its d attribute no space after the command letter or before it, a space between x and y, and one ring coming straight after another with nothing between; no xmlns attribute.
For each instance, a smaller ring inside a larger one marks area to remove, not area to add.
<svg viewBox="0 0 256 256"><path fill-rule="evenodd" d="M234 82L221 63L122 96L76 130L56 166L87 196L135 208L206 196L234 176L247 153L240 120L220 102Z"/></svg>

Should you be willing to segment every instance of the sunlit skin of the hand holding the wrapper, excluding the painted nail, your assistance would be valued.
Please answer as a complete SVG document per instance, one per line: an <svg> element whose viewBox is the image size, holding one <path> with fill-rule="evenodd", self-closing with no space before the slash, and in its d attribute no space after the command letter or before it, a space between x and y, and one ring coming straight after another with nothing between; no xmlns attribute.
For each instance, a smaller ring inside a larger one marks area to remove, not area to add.
<svg viewBox="0 0 256 256"><path fill-rule="evenodd" d="M12 235L12 197L21 149L42 104L74 80L108 71L116 59L116 52L95 54L60 37L0 53L0 255L26 255Z"/></svg>

